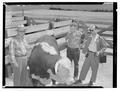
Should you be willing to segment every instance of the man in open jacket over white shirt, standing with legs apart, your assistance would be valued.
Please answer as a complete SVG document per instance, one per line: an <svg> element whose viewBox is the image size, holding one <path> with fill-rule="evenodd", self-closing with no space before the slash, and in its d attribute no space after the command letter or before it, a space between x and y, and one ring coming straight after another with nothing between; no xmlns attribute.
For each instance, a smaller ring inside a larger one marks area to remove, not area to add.
<svg viewBox="0 0 120 91"><path fill-rule="evenodd" d="M102 54L107 47L105 40L99 36L95 30L95 25L90 25L88 28L88 34L90 34L90 36L87 38L85 46L82 50L82 52L86 54L86 59L83 63L79 80L76 81L76 83L82 83L82 81L86 78L89 68L91 67L92 75L88 84L89 86L94 85L96 81L99 67L99 55Z"/></svg>

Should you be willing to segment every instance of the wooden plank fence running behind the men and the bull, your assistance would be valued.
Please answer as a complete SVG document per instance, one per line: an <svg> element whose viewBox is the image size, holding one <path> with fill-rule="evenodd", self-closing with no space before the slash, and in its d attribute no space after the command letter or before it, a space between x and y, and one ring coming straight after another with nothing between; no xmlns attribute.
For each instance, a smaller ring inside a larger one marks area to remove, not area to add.
<svg viewBox="0 0 120 91"><path fill-rule="evenodd" d="M59 22L52 22L53 28L49 28L49 21L37 21L37 25L31 25L31 26L25 26L27 28L25 38L29 43L34 42L37 38L43 35L54 35L57 39L58 45L60 47L60 50L63 50L65 48L65 35L70 29L70 23L71 20L65 20L65 21L59 21ZM8 41L12 36L16 35L16 29L18 25L26 24L27 21L24 20L23 16L18 17L10 17L6 16L5 20L5 33L7 33L7 37L5 38L6 41ZM91 23L86 23L86 25L90 25ZM105 25L105 24L96 24L96 26L99 28L97 32L100 32L100 35L103 36L107 41L110 41L109 43L113 43L113 31L102 31L101 28L107 29L111 25ZM101 32L102 31L102 32ZM110 46L106 52L108 54L113 54L113 49Z"/></svg>

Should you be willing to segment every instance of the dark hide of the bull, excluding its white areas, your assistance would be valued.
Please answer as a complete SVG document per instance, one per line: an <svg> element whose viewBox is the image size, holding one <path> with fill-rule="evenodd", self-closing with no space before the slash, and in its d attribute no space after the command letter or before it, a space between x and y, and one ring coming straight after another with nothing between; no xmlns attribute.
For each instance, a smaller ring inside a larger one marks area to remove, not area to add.
<svg viewBox="0 0 120 91"><path fill-rule="evenodd" d="M58 49L57 41L54 37L45 35L39 38L38 42L47 42L50 46L53 46L58 55L50 55L43 51L41 45L35 46L31 52L31 56L28 59L28 66L30 68L30 75L35 74L39 75L41 78L49 78L49 73L47 73L48 69L51 69L53 73L55 73L55 64L60 58L60 52Z"/></svg>

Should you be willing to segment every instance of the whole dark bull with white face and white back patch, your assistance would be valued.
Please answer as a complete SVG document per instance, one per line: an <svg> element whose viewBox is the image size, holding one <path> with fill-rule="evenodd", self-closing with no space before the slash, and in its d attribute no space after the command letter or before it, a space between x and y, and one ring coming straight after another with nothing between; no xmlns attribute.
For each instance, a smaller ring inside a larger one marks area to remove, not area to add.
<svg viewBox="0 0 120 91"><path fill-rule="evenodd" d="M60 55L54 37L45 35L37 41L28 59L30 78L34 86L51 86L53 83L72 84L72 63Z"/></svg>

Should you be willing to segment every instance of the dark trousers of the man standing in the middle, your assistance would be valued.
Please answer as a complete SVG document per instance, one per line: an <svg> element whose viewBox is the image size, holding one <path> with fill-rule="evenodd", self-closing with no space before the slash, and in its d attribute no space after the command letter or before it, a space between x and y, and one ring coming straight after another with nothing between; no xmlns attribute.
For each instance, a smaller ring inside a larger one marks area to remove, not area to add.
<svg viewBox="0 0 120 91"><path fill-rule="evenodd" d="M67 57L74 61L74 77L78 76L80 50L78 48L67 47Z"/></svg>

